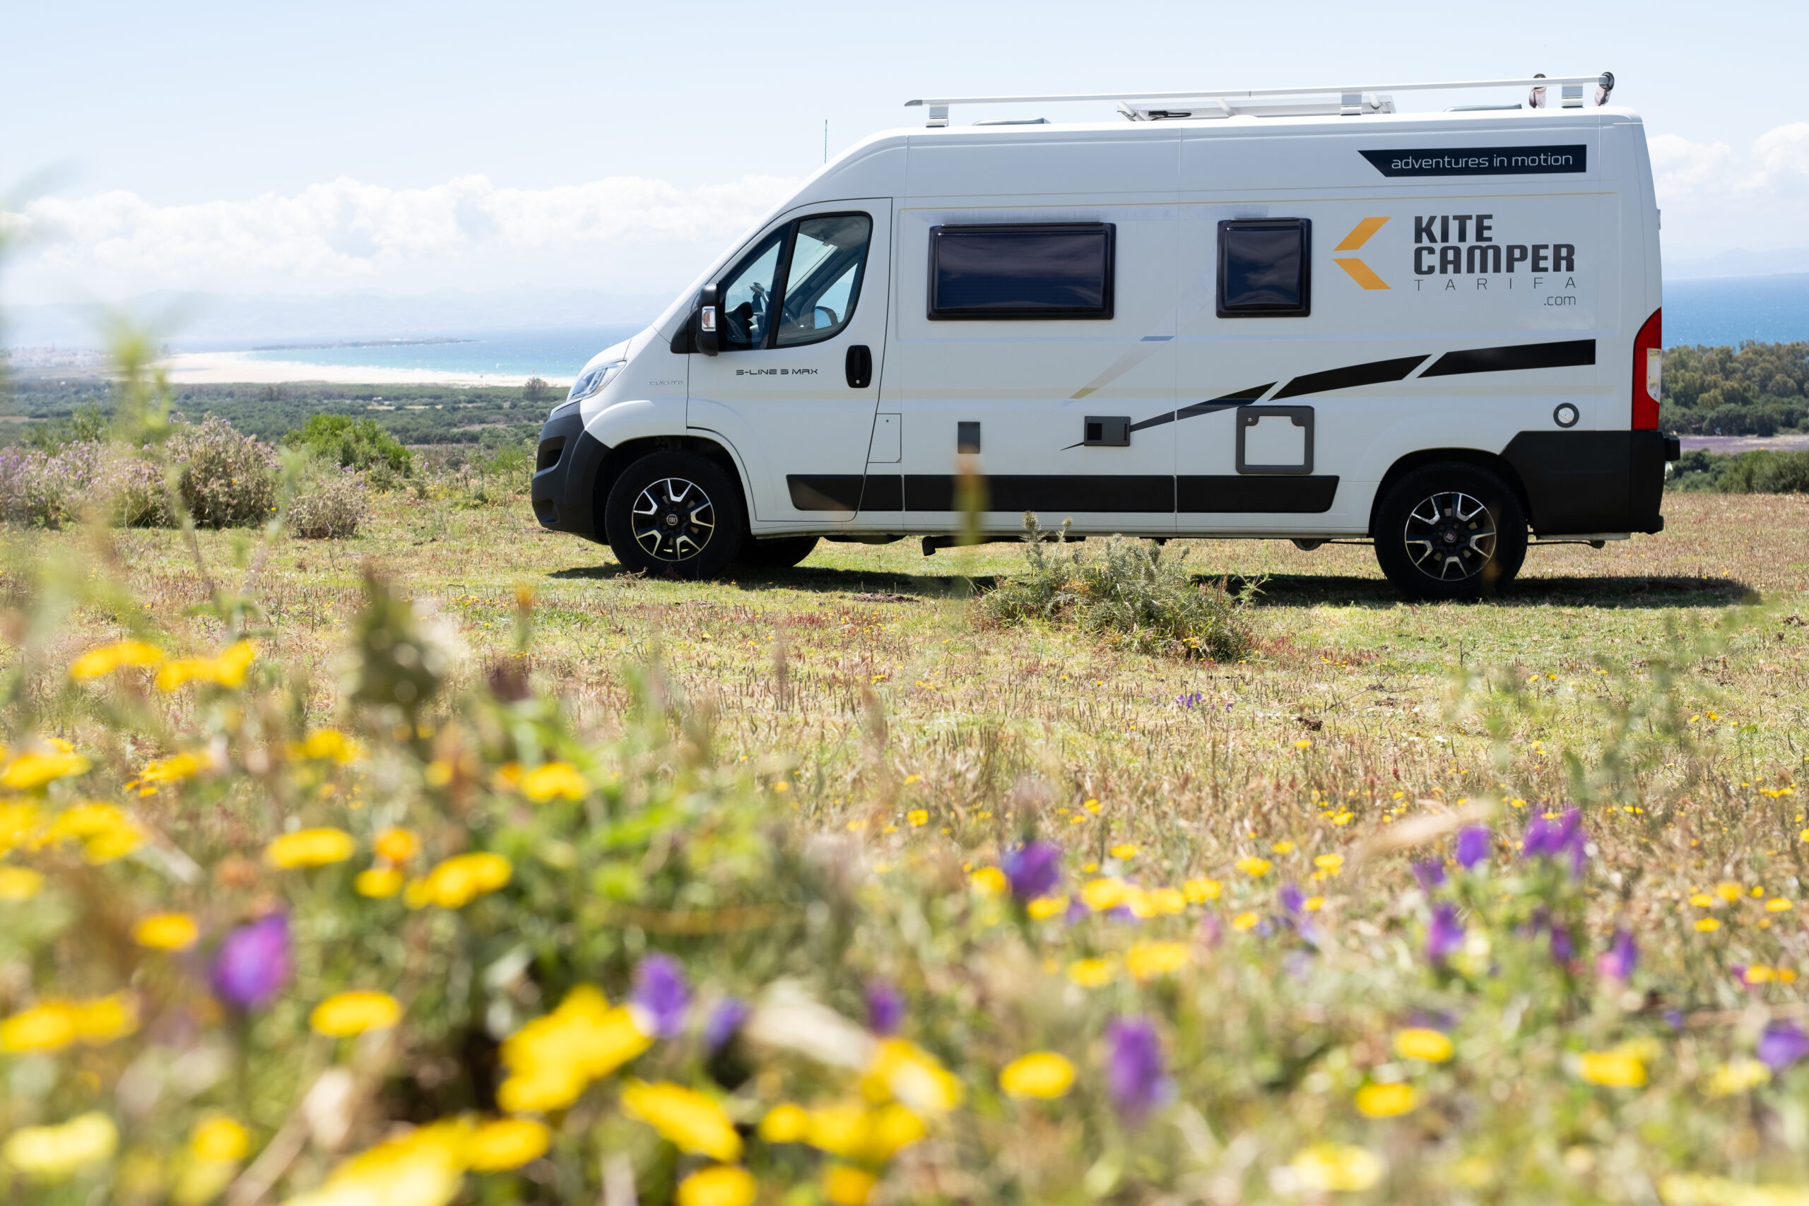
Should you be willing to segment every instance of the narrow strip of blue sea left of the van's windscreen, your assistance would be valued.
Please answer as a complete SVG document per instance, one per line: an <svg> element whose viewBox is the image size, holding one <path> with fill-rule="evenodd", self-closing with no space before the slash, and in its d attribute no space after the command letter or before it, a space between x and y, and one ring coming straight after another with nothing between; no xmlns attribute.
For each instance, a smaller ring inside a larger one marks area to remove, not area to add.
<svg viewBox="0 0 1809 1206"><path fill-rule="evenodd" d="M376 344L369 347L275 347L250 353L251 360L347 365L358 369L431 369L434 372L496 372L503 376L573 378L584 362L611 344L640 333L640 325L570 327L548 331L488 331L454 334L445 344Z"/></svg>

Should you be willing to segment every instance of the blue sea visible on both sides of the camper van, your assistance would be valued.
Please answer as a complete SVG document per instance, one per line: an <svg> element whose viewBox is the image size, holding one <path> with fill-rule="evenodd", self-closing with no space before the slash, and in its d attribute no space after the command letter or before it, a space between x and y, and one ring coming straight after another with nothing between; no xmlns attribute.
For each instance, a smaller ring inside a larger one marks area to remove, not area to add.
<svg viewBox="0 0 1809 1206"><path fill-rule="evenodd" d="M640 331L635 325L545 331L447 333L449 344L373 347L270 347L251 360L289 360L365 369L429 369L573 378L604 347ZM1809 340L1809 273L1710 277L1664 284L1664 344L1738 344Z"/></svg>

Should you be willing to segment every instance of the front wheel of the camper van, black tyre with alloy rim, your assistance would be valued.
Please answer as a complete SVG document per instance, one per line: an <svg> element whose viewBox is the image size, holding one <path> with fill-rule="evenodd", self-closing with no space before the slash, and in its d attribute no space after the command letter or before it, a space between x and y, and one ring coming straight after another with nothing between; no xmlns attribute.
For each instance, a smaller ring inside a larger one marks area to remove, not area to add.
<svg viewBox="0 0 1809 1206"><path fill-rule="evenodd" d="M649 577L713 579L742 551L742 490L696 452L653 452L615 479L602 530L624 568Z"/></svg>

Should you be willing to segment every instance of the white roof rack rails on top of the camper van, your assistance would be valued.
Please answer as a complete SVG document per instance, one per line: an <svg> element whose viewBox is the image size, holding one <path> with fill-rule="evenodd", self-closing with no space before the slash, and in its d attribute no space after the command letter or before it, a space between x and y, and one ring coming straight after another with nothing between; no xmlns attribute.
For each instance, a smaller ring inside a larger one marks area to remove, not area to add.
<svg viewBox="0 0 1809 1206"><path fill-rule="evenodd" d="M930 110L932 127L948 125L952 105L1064 105L1064 103L1118 103L1118 110L1131 121L1160 121L1163 118L1230 118L1234 114L1279 116L1279 112L1331 112L1326 103L1319 105L1248 105L1241 101L1337 96L1337 112L1357 118L1373 112L1393 112L1389 98L1380 92L1458 92L1467 89L1530 89L1532 108L1545 108L1545 89L1561 89L1565 108L1583 107L1583 89L1596 85L1596 103L1606 105L1614 92L1614 72L1605 71L1594 76L1529 76L1525 80L1451 80L1442 83L1362 83L1362 85L1322 85L1308 89L1207 89L1178 92L1073 92L1064 96L928 96L904 101L906 108L924 107ZM1143 101L1138 105L1138 101ZM1189 105L1198 101L1198 105ZM1160 103L1161 108L1154 105Z"/></svg>

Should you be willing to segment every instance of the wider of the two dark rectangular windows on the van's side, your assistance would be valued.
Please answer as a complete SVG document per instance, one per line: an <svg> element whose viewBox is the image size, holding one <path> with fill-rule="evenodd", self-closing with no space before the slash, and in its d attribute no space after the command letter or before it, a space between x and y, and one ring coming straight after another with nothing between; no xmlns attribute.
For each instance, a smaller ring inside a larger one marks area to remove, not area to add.
<svg viewBox="0 0 1809 1206"><path fill-rule="evenodd" d="M1111 222L930 228L930 318L1111 318Z"/></svg>

